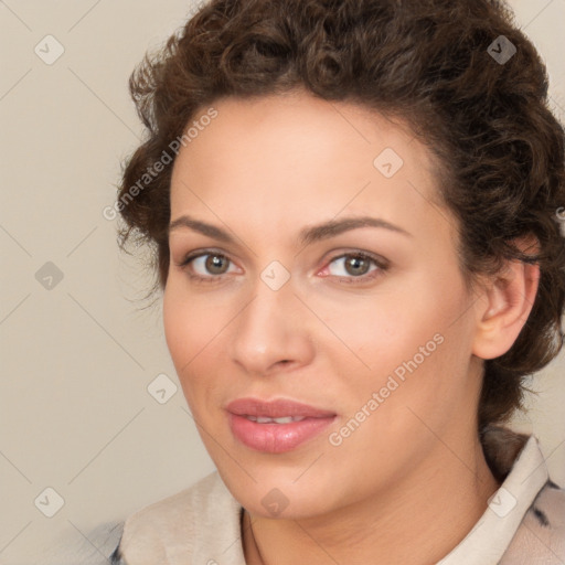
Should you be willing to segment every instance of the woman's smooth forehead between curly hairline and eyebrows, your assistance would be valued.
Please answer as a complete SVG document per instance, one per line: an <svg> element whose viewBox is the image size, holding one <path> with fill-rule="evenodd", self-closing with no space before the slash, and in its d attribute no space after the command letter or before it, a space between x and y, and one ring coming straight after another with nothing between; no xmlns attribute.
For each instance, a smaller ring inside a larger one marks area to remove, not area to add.
<svg viewBox="0 0 565 565"><path fill-rule="evenodd" d="M402 121L303 93L228 97L213 108L216 117L174 162L173 218L237 214L249 225L269 218L274 230L288 230L297 218L369 211L401 225L418 215L431 224L444 215L445 223L436 161Z"/></svg>

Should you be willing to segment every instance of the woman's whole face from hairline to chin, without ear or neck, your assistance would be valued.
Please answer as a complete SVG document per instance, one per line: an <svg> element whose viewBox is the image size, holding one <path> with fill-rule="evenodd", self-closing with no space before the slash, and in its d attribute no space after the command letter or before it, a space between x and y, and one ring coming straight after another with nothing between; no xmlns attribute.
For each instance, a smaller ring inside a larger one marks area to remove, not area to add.
<svg viewBox="0 0 565 565"><path fill-rule="evenodd" d="M227 487L254 513L305 518L454 459L480 365L428 150L307 94L213 107L174 162L163 308Z"/></svg>

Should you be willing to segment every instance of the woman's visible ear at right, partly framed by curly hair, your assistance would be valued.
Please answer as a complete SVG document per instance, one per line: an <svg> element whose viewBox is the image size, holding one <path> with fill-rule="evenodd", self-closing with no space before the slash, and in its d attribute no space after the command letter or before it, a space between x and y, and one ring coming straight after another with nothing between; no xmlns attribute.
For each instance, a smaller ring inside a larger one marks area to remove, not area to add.
<svg viewBox="0 0 565 565"><path fill-rule="evenodd" d="M536 238L515 241L524 253L537 253ZM477 326L472 353L495 359L513 345L532 311L540 284L540 266L507 262L501 273L482 286L476 302Z"/></svg>

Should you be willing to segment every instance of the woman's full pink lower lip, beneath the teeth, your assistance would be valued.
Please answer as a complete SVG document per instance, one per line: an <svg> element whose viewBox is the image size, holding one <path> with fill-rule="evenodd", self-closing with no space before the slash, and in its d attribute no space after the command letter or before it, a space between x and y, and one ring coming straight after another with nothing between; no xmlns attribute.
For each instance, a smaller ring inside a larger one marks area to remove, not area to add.
<svg viewBox="0 0 565 565"><path fill-rule="evenodd" d="M247 447L268 454L284 454L303 444L327 428L335 416L305 418L290 424L257 424L230 413L233 435Z"/></svg>

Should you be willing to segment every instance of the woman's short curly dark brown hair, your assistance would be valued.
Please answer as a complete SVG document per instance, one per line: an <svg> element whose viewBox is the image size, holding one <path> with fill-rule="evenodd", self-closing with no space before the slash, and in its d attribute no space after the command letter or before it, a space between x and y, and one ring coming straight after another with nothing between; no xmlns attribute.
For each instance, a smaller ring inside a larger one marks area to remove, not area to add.
<svg viewBox="0 0 565 565"><path fill-rule="evenodd" d="M497 57L503 47L505 60ZM146 54L129 87L147 140L124 163L118 241L122 249L135 242L153 250L151 294L164 288L170 260L172 164L163 167L163 156L214 100L305 88L409 124L441 166L440 198L458 220L466 280L495 274L504 260L540 265L520 335L484 362L479 429L523 407L525 379L563 344L565 246L556 211L565 205L565 143L547 106L545 66L505 4L212 0ZM148 174L153 168L159 174ZM536 255L515 245L527 235L539 241Z"/></svg>

